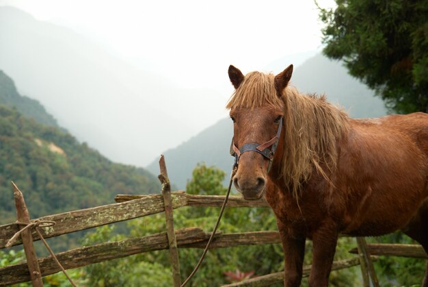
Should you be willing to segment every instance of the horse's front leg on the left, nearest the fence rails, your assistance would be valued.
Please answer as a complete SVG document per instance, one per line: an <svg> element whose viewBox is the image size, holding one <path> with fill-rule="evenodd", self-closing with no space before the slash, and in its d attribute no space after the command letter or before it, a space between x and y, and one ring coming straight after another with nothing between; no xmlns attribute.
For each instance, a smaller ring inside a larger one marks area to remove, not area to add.
<svg viewBox="0 0 428 287"><path fill-rule="evenodd" d="M284 250L284 286L298 287L302 281L306 238L295 238L279 221L278 229Z"/></svg>

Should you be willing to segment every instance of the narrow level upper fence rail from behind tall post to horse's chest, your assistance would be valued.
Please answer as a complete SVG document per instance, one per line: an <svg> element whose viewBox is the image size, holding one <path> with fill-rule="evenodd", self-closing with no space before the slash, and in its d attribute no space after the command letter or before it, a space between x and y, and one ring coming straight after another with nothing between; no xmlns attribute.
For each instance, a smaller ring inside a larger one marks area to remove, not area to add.
<svg viewBox="0 0 428 287"><path fill-rule="evenodd" d="M183 191L179 191L183 192ZM175 192L171 192L174 195ZM116 202L123 202L133 199L139 199L146 197L147 195L116 195L114 200ZM188 206L204 206L204 207L222 207L224 201L224 195L187 195ZM243 199L241 196L230 196L228 208L269 208L269 204L264 199L258 199L254 201L248 201Z"/></svg>

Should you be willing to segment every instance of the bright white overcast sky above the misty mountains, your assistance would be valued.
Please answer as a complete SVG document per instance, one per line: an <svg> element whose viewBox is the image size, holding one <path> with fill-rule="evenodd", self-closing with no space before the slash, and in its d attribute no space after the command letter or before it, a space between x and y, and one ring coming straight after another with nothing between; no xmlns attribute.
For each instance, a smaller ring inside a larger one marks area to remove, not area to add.
<svg viewBox="0 0 428 287"><path fill-rule="evenodd" d="M229 64L260 70L285 55L321 48L313 0L0 0L0 5L71 27L186 87L224 83Z"/></svg>

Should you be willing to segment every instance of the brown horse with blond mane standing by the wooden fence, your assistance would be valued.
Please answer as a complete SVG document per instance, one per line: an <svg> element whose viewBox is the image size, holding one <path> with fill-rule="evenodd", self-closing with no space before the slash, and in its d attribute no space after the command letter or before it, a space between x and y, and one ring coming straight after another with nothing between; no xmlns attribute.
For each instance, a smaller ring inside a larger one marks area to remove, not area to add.
<svg viewBox="0 0 428 287"><path fill-rule="evenodd" d="M239 159L233 181L245 199L264 194L276 214L285 286L301 282L306 238L310 286L327 286L338 234L401 229L428 253L427 114L349 118L325 97L288 86L293 65L276 76L244 76L234 66L228 73L236 89L227 105Z"/></svg>

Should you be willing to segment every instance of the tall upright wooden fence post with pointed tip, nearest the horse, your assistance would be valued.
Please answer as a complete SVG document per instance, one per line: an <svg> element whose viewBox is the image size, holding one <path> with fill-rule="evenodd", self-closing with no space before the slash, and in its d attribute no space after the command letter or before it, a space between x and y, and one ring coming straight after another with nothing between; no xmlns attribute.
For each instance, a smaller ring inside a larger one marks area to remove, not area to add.
<svg viewBox="0 0 428 287"><path fill-rule="evenodd" d="M180 287L180 261L178 260L178 248L174 233L174 218L172 216L171 184L170 179L168 179L163 155L161 155L161 159L159 160L159 167L161 169L161 174L158 178L162 184L163 204L165 205L166 232L168 235L168 245L170 245L172 278L174 280L174 287Z"/></svg>

